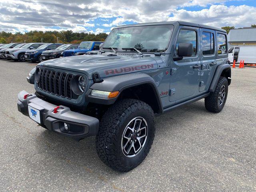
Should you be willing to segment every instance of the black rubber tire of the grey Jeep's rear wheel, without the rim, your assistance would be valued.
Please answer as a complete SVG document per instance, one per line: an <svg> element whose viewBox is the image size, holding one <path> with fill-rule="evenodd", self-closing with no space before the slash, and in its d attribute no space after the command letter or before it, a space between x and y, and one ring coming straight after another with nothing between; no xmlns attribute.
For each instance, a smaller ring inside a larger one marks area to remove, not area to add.
<svg viewBox="0 0 256 192"><path fill-rule="evenodd" d="M219 95L220 88L222 87L222 85L225 86L226 94L224 97L224 101L220 105L218 103L218 95ZM228 96L228 80L227 80L227 78L221 76L220 79L218 80L218 83L216 85L214 92L211 92L209 96L204 98L204 105L205 105L206 110L208 110L210 112L214 112L214 113L220 112L226 103L227 96Z"/></svg>

